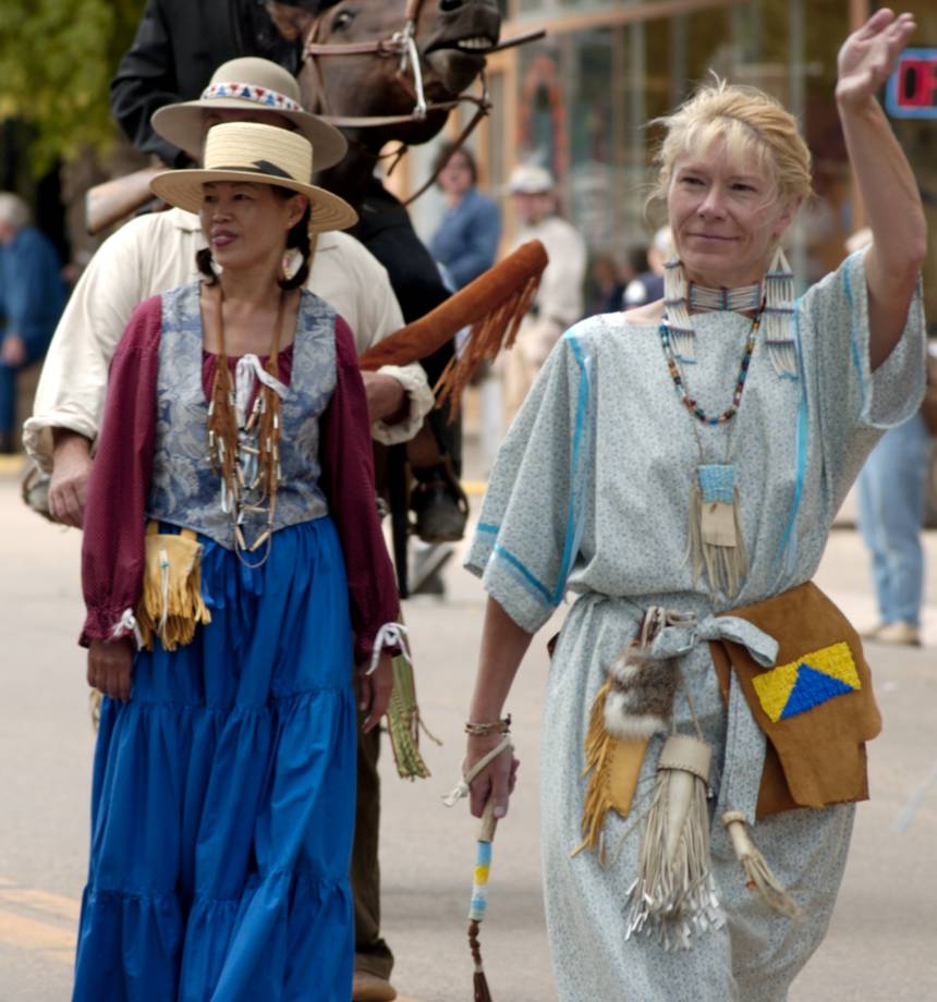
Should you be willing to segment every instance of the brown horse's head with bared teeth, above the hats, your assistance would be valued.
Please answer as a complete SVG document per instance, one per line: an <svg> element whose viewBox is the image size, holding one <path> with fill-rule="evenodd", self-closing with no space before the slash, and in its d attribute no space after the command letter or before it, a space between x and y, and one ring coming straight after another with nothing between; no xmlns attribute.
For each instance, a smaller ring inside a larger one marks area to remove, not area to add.
<svg viewBox="0 0 937 1002"><path fill-rule="evenodd" d="M414 70L410 59L403 59L400 40L413 12L413 41L430 109L423 120L343 127L372 150L389 139L426 143L442 129L448 110L431 106L454 100L484 69L485 53L497 44L501 29L497 4L494 0L340 0L315 19L307 36L316 51L307 52L299 76L306 108L341 119L410 118L416 103ZM375 49L375 42L382 45ZM334 53L329 47L336 48Z"/></svg>

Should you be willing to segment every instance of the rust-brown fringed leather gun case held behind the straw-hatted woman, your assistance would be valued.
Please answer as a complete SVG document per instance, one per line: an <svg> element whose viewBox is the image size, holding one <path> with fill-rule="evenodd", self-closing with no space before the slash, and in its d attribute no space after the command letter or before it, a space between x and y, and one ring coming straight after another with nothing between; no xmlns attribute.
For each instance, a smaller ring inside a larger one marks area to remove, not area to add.
<svg viewBox="0 0 937 1002"><path fill-rule="evenodd" d="M358 364L373 371L382 365L417 362L468 327L461 356L449 363L436 384L438 401L449 400L454 412L478 366L514 343L548 260L544 245L538 240L528 241L425 317L368 349Z"/></svg>

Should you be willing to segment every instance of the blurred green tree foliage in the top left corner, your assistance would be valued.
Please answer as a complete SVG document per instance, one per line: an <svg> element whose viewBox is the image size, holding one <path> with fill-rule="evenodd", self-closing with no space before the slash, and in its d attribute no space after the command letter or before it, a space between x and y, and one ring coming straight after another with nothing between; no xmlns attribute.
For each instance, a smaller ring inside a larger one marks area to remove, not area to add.
<svg viewBox="0 0 937 1002"><path fill-rule="evenodd" d="M29 126L37 172L113 137L108 86L144 0L0 3L0 120Z"/></svg>

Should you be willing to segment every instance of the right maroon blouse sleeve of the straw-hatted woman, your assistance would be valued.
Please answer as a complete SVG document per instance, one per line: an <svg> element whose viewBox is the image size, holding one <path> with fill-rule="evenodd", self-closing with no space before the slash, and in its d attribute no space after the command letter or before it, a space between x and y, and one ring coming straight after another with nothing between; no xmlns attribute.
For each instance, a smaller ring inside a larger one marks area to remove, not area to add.
<svg viewBox="0 0 937 1002"><path fill-rule="evenodd" d="M354 339L341 317L336 320L336 389L323 415L320 448L321 486L345 558L355 663L364 664L380 627L398 619L400 601L377 514L364 382Z"/></svg>

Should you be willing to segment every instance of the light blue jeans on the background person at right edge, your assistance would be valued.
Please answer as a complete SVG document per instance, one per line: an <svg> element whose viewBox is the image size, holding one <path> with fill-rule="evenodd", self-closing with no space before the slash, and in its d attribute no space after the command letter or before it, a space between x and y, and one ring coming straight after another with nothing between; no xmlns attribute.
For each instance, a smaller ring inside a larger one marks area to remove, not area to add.
<svg viewBox="0 0 937 1002"><path fill-rule="evenodd" d="M924 489L930 442L920 413L887 431L859 475L859 527L883 623L921 624Z"/></svg>

